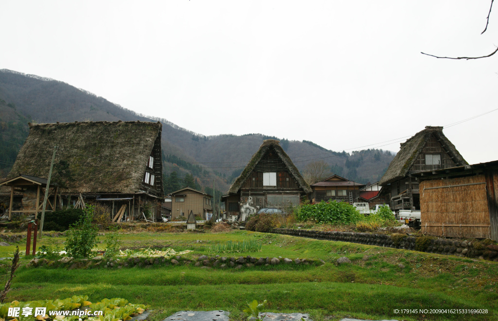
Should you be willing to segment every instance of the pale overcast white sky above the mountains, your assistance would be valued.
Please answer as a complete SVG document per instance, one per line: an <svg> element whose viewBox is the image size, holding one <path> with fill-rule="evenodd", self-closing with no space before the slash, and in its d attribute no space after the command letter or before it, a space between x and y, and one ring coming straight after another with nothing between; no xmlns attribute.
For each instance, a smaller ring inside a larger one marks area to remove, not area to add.
<svg viewBox="0 0 498 321"><path fill-rule="evenodd" d="M397 152L427 125L467 120L444 133L478 163L498 160L498 54L421 52L493 52L498 8L481 34L490 3L1 1L0 69L207 136L262 133L334 151Z"/></svg>

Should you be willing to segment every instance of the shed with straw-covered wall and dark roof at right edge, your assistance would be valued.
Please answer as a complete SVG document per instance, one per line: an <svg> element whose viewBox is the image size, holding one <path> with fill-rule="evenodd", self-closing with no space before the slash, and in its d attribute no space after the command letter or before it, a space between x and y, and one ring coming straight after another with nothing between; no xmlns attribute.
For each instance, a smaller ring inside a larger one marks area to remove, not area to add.
<svg viewBox="0 0 498 321"><path fill-rule="evenodd" d="M413 174L423 233L498 241L498 160Z"/></svg>

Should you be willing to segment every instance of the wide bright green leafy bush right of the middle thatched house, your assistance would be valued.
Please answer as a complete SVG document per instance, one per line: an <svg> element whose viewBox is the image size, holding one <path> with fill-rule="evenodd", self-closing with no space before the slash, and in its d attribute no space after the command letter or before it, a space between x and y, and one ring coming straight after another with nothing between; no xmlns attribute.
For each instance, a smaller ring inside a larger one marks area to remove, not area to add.
<svg viewBox="0 0 498 321"><path fill-rule="evenodd" d="M352 224L361 221L364 216L349 203L321 201L318 204L303 205L296 218L298 221L313 220L317 223Z"/></svg>

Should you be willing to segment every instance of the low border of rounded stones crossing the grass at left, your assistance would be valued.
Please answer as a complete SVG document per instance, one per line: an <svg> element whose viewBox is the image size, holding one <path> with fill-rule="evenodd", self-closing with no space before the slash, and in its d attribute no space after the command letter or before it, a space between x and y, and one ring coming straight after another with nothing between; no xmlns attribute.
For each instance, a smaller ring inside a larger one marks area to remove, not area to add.
<svg viewBox="0 0 498 321"><path fill-rule="evenodd" d="M195 258L184 258L180 255L174 258L167 258L164 256L159 257L102 257L97 256L94 258L80 258L75 259L73 257L62 257L58 260L48 260L46 258L33 258L27 264L28 267L38 267L38 266L48 266L48 267L66 267L69 270L72 269L89 269L89 268L117 268L122 269L124 267L140 267L140 268L150 268L152 266L174 266L174 265L192 265L200 268L235 268L241 269L243 267L250 268L253 266L270 266L270 265L319 265L323 264L323 260L311 260L311 259L299 259L296 258L291 260L289 258L277 257L252 257L239 256L239 257L226 257L226 256L207 256L202 255Z"/></svg>

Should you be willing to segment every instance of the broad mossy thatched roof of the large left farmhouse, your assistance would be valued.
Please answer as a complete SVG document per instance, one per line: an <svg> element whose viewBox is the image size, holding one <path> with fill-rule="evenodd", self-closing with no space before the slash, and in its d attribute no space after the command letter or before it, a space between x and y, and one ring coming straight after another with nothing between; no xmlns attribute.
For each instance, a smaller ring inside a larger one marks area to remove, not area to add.
<svg viewBox="0 0 498 321"><path fill-rule="evenodd" d="M138 192L161 128L138 121L30 124L7 178L48 177L57 146L51 180L63 193Z"/></svg>

